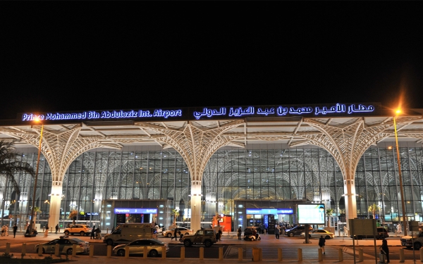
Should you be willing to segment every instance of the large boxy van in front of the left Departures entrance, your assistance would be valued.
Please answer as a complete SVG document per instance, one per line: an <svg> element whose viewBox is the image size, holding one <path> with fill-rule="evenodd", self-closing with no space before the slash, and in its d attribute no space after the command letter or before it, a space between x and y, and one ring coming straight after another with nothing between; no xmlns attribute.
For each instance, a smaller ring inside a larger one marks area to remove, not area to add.
<svg viewBox="0 0 423 264"><path fill-rule="evenodd" d="M111 234L106 234L103 241L107 245L128 244L137 239L153 239L157 237L156 232L153 223L125 223L118 225Z"/></svg>

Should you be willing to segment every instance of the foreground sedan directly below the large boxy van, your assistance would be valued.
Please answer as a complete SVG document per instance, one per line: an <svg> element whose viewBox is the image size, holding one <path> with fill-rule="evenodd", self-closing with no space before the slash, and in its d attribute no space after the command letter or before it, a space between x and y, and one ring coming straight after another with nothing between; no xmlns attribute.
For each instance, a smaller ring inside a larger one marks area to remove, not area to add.
<svg viewBox="0 0 423 264"><path fill-rule="evenodd" d="M157 239L137 239L129 244L122 244L115 246L113 253L117 256L125 256L125 246L129 246L129 254L144 254L144 247L147 246L147 255L150 257L157 257L163 253L163 246L166 247L166 252L169 251L168 244Z"/></svg>

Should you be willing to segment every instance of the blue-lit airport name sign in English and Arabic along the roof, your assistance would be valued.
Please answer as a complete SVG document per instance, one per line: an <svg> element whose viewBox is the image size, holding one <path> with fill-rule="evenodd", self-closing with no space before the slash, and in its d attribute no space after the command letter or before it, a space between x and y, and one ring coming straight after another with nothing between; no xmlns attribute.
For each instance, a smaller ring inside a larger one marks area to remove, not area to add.
<svg viewBox="0 0 423 264"><path fill-rule="evenodd" d="M379 115L380 103L335 103L306 106L219 106L204 108L156 108L111 111L72 111L66 113L21 113L20 122L36 119L48 122L83 122L105 120L212 120L263 117L326 117Z"/></svg>

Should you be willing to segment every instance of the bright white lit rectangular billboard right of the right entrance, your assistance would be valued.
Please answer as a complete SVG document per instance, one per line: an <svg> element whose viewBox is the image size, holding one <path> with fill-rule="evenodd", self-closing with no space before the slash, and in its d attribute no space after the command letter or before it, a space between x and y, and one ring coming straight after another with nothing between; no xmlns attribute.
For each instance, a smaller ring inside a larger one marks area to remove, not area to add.
<svg viewBox="0 0 423 264"><path fill-rule="evenodd" d="M298 224L324 225L324 213L325 210L323 203L298 204Z"/></svg>

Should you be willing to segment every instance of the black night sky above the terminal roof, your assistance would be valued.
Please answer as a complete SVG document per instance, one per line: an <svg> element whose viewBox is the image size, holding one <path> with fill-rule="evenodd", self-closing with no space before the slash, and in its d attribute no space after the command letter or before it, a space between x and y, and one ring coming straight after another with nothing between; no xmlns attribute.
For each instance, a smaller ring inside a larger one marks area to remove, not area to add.
<svg viewBox="0 0 423 264"><path fill-rule="evenodd" d="M34 111L423 108L412 2L2 4L0 119ZM224 10L224 11L223 11Z"/></svg>

